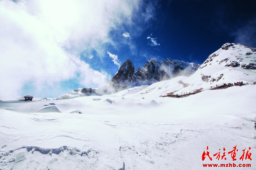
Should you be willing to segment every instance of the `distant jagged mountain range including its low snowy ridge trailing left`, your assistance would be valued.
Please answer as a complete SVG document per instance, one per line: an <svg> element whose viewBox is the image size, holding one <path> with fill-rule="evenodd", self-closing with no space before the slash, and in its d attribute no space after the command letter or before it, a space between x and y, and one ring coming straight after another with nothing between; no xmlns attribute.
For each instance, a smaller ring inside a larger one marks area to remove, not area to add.
<svg viewBox="0 0 256 170"><path fill-rule="evenodd" d="M195 63L186 63L179 60L165 59L158 62L150 59L142 67L134 72L134 65L130 59L127 59L113 76L109 84L99 88L77 88L71 92L57 97L56 99L72 99L81 96L101 96L129 87L150 85L157 81L168 80L178 75L191 75L200 65Z"/></svg>

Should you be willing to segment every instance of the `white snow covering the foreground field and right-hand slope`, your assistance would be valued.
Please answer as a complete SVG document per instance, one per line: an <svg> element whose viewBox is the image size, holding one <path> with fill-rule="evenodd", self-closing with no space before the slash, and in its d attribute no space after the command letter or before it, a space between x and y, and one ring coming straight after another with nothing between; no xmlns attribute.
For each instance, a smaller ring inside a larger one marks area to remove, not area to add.
<svg viewBox="0 0 256 170"><path fill-rule="evenodd" d="M237 50L244 55L250 52L244 47ZM207 169L204 163L233 162L251 164L239 169L255 168L256 85L204 90L186 98L159 97L222 82L255 81L255 70L215 61L230 57L230 50L217 52L212 65L190 77L54 103L0 101L0 168L199 170ZM224 74L224 80L205 82L201 74L211 78ZM238 160L232 161L227 152L236 145ZM207 146L213 161L202 161ZM219 149L222 153L223 147L227 160L218 161L213 154ZM242 162L242 150L249 147L252 161Z"/></svg>

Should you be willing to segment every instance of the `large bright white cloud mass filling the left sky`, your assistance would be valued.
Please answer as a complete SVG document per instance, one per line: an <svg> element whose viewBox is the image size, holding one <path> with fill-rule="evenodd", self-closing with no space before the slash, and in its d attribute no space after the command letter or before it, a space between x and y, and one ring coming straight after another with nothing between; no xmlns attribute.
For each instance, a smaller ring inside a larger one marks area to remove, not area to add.
<svg viewBox="0 0 256 170"><path fill-rule="evenodd" d="M0 100L22 95L27 83L38 90L71 78L83 86L107 83L108 74L91 69L77 54L115 43L109 30L132 22L138 5L136 0L0 1Z"/></svg>

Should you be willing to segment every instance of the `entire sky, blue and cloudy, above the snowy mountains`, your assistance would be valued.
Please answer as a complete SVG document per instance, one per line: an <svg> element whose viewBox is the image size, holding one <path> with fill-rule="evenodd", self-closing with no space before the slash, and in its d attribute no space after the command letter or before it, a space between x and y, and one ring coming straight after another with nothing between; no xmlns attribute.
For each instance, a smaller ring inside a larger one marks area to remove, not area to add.
<svg viewBox="0 0 256 170"><path fill-rule="evenodd" d="M0 2L0 100L99 87L126 59L201 64L226 42L256 47L256 1Z"/></svg>

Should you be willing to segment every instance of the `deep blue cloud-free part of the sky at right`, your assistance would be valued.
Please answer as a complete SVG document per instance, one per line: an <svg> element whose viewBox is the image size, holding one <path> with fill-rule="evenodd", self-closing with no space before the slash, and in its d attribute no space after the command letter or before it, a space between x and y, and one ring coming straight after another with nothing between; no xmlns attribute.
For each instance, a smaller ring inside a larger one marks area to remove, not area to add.
<svg viewBox="0 0 256 170"><path fill-rule="evenodd" d="M255 1L239 0L155 2L154 17L147 22L135 21L132 27L122 25L121 29L109 32L119 44L118 48L107 46L108 51L117 55L120 63L130 58L135 69L151 57L159 61L171 58L201 64L226 42L256 47L255 6ZM134 27L144 29L138 34ZM123 33L129 33L129 37L122 36ZM104 58L101 64L97 62L99 53L92 51L91 54L92 59L84 58L91 68L105 68L111 75L118 70L107 53L101 54ZM84 55L88 54L81 53Z"/></svg>

